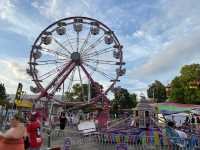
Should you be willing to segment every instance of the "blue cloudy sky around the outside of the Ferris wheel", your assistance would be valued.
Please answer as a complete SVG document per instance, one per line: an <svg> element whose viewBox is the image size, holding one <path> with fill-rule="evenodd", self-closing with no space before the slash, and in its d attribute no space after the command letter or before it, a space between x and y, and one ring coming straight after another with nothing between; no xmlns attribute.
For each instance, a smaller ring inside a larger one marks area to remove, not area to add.
<svg viewBox="0 0 200 150"><path fill-rule="evenodd" d="M34 40L71 16L95 18L114 31L127 70L118 85L131 93L154 80L167 85L181 66L200 63L199 0L0 0L0 82L7 93L19 82L31 93L26 68Z"/></svg>

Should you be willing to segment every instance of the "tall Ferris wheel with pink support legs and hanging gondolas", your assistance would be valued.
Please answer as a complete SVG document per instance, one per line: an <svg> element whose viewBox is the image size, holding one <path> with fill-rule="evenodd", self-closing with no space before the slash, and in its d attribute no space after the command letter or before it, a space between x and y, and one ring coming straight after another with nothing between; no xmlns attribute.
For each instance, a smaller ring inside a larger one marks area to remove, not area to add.
<svg viewBox="0 0 200 150"><path fill-rule="evenodd" d="M27 73L36 85L30 87L38 94L35 100L45 97L64 104L55 94L70 93L79 84L80 101L101 102L99 121L105 126L109 111L106 95L126 72L122 48L114 32L96 19L78 16L54 22L40 33L31 49ZM95 97L91 97L90 87L97 91Z"/></svg>

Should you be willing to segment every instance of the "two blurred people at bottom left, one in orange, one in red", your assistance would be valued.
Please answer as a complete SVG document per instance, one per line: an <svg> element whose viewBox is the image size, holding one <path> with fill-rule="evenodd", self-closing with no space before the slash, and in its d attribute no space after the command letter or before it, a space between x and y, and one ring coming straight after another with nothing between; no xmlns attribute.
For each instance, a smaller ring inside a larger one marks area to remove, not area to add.
<svg viewBox="0 0 200 150"><path fill-rule="evenodd" d="M41 123L33 112L25 121L20 114L10 119L10 128L0 132L0 150L40 150L43 144Z"/></svg>

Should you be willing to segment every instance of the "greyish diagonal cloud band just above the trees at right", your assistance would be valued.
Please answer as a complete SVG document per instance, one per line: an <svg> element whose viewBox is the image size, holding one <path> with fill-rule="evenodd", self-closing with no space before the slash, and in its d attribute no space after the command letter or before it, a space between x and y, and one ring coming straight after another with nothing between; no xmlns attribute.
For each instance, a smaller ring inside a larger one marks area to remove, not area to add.
<svg viewBox="0 0 200 150"><path fill-rule="evenodd" d="M132 71L134 78L156 79L163 74L170 74L184 64L192 61L200 54L200 31L191 32L187 36L182 36L170 42L156 55L151 56L149 61L140 68Z"/></svg>

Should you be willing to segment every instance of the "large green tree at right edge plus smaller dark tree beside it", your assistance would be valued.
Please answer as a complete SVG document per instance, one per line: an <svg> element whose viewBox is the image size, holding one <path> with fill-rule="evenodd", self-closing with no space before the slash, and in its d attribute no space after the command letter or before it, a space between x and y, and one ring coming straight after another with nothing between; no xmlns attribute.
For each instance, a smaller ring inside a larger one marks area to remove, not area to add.
<svg viewBox="0 0 200 150"><path fill-rule="evenodd" d="M184 65L180 74L170 82L168 90L167 97L166 87L156 80L149 86L147 95L155 102L168 100L183 104L200 104L200 64Z"/></svg>

